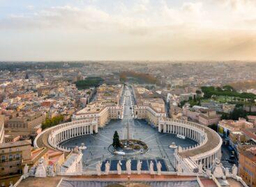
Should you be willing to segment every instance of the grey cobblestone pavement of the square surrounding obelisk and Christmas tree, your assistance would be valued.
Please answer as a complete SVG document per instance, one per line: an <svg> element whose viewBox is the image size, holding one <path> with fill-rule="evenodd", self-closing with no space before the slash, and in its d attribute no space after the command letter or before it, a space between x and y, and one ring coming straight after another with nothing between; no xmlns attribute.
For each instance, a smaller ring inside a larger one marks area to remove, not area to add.
<svg viewBox="0 0 256 187"><path fill-rule="evenodd" d="M129 122L130 138L142 140L149 147L148 152L132 156L133 159L158 159L163 158L169 171L174 171L174 149L170 149L172 142L181 147L196 145L195 141L186 138L185 140L176 138L174 134L159 133L144 120L133 120L130 109L130 96L125 97L125 108L123 120L111 120L103 129L99 129L97 134L80 136L63 142L64 147L73 148L86 145L83 151L84 170L96 170L98 161L121 160L127 157L111 154L108 147L112 144L114 131L119 133L120 139L126 139L126 124Z"/></svg>

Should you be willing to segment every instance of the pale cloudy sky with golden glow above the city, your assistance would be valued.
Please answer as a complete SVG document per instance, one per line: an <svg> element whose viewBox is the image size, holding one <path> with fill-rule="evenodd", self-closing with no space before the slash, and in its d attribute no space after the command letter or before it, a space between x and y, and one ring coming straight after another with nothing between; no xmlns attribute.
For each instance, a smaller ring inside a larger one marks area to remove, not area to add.
<svg viewBox="0 0 256 187"><path fill-rule="evenodd" d="M0 0L0 60L256 60L256 1Z"/></svg>

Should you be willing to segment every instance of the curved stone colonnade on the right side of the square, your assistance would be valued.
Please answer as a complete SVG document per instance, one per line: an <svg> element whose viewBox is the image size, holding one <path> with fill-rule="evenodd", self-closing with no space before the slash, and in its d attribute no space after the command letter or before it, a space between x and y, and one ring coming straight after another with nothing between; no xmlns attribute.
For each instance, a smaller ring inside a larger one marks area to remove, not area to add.
<svg viewBox="0 0 256 187"><path fill-rule="evenodd" d="M218 133L208 127L204 127L202 124L164 118L159 120L158 131L179 134L195 140L198 143L195 147L184 147L179 149L177 155L179 156L179 154L182 153L182 156L180 156L181 159L189 158L190 161L197 163L197 165L202 163L204 168L211 168L214 161L216 161L216 159L220 160L221 158L222 140L220 136L218 136ZM209 135L212 140L209 140ZM216 141L216 146L207 146L207 144L211 145L209 141ZM200 147L203 148L199 151ZM194 151L193 154L191 154L192 151ZM186 153L188 156L186 156Z"/></svg>

